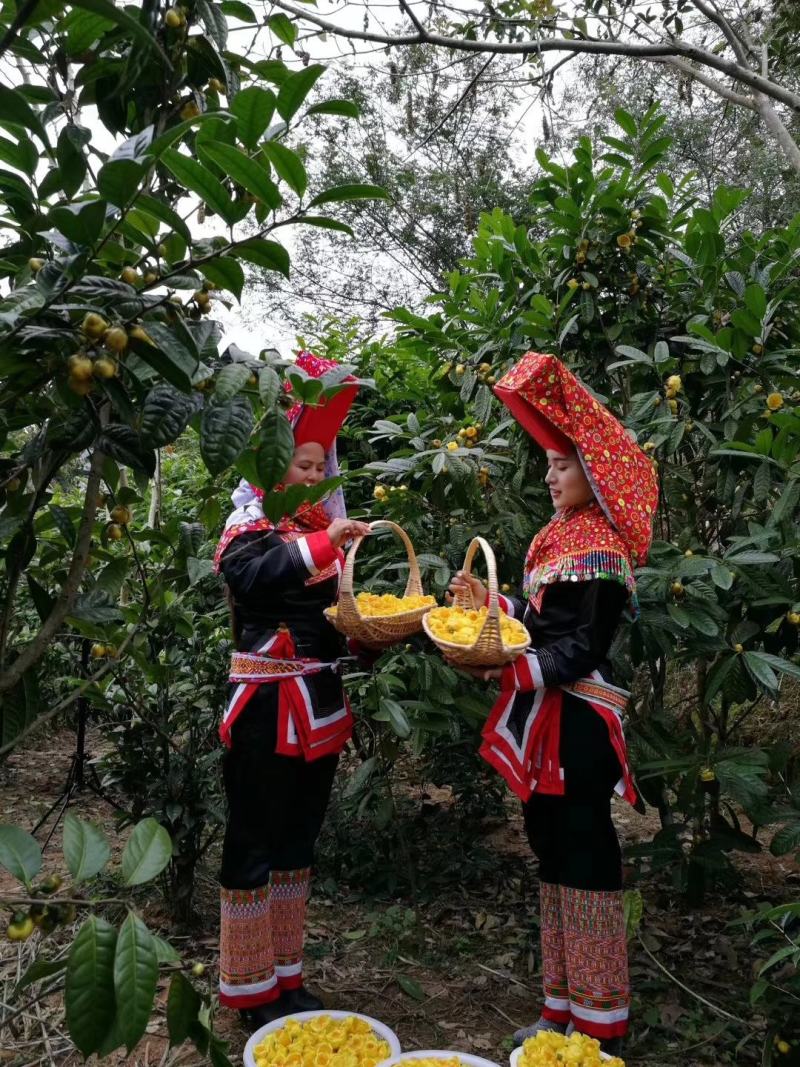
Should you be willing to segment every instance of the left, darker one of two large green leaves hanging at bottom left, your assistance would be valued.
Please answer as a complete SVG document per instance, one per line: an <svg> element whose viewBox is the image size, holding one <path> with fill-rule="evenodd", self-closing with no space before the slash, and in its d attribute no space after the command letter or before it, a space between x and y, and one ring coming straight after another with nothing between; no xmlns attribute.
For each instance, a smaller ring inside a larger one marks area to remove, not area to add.
<svg viewBox="0 0 800 1067"><path fill-rule="evenodd" d="M83 923L69 950L64 1007L75 1045L90 1056L114 1022L114 949L116 929L97 915Z"/></svg>

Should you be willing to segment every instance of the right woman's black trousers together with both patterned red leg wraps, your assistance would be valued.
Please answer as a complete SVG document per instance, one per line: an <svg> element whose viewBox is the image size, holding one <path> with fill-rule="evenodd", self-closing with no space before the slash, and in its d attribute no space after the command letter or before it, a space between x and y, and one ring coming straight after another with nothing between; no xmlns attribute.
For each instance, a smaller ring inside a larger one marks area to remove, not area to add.
<svg viewBox="0 0 800 1067"><path fill-rule="evenodd" d="M525 828L539 859L544 1007L601 1039L627 1030L622 854L611 822L620 765L603 719L576 697L561 719L564 795L534 794Z"/></svg>

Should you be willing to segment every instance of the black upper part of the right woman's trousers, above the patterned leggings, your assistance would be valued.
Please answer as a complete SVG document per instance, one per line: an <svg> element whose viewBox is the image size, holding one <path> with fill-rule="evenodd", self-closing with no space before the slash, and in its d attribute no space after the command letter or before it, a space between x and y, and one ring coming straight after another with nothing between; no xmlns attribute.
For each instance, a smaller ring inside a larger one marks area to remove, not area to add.
<svg viewBox="0 0 800 1067"><path fill-rule="evenodd" d="M563 796L537 793L523 805L542 881L572 889L622 889L622 853L611 795L622 775L608 727L583 700L564 694L561 712Z"/></svg>

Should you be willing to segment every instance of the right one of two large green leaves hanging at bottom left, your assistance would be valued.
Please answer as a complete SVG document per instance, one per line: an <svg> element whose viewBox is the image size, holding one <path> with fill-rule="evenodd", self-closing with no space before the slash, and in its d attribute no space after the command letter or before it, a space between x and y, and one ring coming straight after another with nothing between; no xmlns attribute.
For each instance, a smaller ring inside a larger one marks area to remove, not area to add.
<svg viewBox="0 0 800 1067"><path fill-rule="evenodd" d="M117 1026L128 1052L147 1029L157 983L158 953L153 935L142 920L129 911L117 935L114 952L114 991L122 1008L117 1013Z"/></svg>

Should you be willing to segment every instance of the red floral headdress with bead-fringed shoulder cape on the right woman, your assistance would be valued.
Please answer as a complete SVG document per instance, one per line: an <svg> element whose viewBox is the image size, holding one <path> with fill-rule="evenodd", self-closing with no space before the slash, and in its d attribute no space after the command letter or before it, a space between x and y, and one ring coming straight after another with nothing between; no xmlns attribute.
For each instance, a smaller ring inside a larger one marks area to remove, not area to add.
<svg viewBox="0 0 800 1067"><path fill-rule="evenodd" d="M555 355L526 353L495 393L542 448L577 451L598 505L560 512L533 539L526 586L534 605L545 585L565 578L610 577L633 596L658 504L645 453Z"/></svg>

